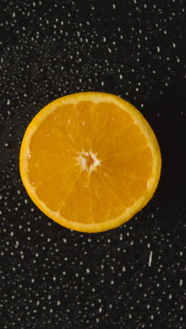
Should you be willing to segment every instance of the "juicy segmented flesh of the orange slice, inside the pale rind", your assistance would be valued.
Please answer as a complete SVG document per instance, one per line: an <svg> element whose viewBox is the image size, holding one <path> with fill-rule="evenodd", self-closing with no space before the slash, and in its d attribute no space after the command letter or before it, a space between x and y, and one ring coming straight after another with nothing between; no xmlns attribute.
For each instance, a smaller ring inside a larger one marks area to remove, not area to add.
<svg viewBox="0 0 186 329"><path fill-rule="evenodd" d="M69 221L115 219L147 192L153 157L132 116L111 103L61 105L30 140L27 176L39 200Z"/></svg>

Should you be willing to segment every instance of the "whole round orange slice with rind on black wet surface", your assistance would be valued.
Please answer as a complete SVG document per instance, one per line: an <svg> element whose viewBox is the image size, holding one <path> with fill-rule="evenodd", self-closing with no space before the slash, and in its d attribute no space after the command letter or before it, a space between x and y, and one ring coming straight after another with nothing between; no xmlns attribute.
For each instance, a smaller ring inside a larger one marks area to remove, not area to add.
<svg viewBox="0 0 186 329"><path fill-rule="evenodd" d="M161 153L154 132L130 103L85 92L46 105L27 127L20 174L48 217L82 232L128 221L151 199Z"/></svg>

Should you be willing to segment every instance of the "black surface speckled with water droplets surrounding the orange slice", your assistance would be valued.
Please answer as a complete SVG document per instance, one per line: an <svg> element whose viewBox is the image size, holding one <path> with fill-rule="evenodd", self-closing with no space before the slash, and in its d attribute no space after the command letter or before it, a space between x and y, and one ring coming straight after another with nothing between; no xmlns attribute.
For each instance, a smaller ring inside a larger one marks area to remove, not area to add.
<svg viewBox="0 0 186 329"><path fill-rule="evenodd" d="M1 0L1 329L186 328L185 26L177 0ZM130 101L162 153L154 198L105 233L59 226L20 180L27 124L78 91Z"/></svg>

